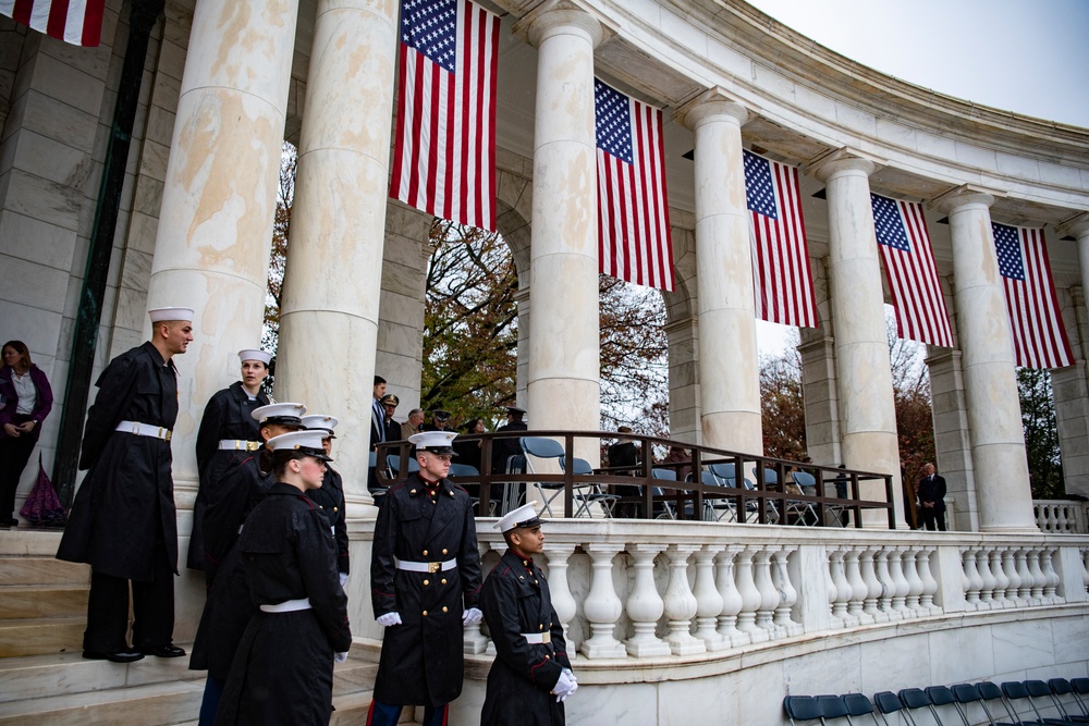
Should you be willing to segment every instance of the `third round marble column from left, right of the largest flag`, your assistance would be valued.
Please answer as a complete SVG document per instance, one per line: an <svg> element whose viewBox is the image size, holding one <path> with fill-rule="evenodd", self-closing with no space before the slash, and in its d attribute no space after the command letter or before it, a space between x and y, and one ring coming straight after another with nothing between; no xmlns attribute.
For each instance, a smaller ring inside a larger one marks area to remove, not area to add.
<svg viewBox="0 0 1089 726"><path fill-rule="evenodd" d="M594 49L602 29L585 11L547 3L515 24L514 32L537 47L529 422L535 429L596 431L600 365ZM598 458L596 451L578 455Z"/></svg>

